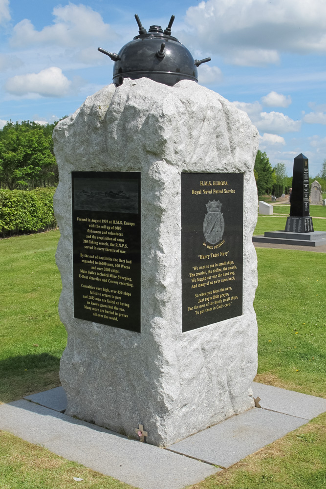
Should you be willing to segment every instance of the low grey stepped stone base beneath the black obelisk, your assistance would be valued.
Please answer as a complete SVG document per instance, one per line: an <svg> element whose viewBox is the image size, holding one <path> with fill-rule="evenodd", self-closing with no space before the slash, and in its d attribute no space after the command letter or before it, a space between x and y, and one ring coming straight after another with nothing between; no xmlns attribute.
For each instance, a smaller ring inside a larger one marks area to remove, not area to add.
<svg viewBox="0 0 326 489"><path fill-rule="evenodd" d="M253 243L295 244L299 246L322 246L326 244L326 232L288 233L286 231L266 231L264 235L253 236Z"/></svg>

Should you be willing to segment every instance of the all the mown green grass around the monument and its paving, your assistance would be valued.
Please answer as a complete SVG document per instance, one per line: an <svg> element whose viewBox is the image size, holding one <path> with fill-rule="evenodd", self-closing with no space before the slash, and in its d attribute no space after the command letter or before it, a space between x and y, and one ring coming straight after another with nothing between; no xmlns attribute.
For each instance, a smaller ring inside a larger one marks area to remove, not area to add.
<svg viewBox="0 0 326 489"><path fill-rule="evenodd" d="M280 221L281 220L281 221ZM286 218L259 217L258 225ZM318 226L326 220L316 220ZM314 222L315 224L315 222ZM284 228L283 225L283 228ZM257 229L257 228L256 228ZM326 227L324 229L326 230ZM0 401L59 385L66 333L58 316L59 231L0 240ZM257 248L256 380L326 398L326 254ZM326 414L193 489L325 489ZM81 477L75 482L73 477ZM0 432L1 489L130 486Z"/></svg>

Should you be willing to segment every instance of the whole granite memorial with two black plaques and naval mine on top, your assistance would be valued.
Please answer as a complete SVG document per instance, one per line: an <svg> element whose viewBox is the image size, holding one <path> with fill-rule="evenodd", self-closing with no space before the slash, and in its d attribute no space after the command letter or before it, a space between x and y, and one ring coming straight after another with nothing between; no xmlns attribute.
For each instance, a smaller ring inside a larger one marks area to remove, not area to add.
<svg viewBox="0 0 326 489"><path fill-rule="evenodd" d="M254 406L258 131L172 22L138 25L157 71L109 53L117 83L54 131L60 378L66 414L167 446Z"/></svg>

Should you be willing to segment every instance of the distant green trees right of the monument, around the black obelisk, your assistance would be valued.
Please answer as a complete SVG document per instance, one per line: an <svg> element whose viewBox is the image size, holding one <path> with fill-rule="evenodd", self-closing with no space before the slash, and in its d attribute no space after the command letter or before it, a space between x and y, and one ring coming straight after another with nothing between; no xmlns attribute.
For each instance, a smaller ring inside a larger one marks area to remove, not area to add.
<svg viewBox="0 0 326 489"><path fill-rule="evenodd" d="M289 188L292 187L292 176L286 175L284 163L277 163L274 167L269 162L266 153L260 150L257 152L254 174L256 179L258 195L275 194L276 197L288 194ZM326 159L322 164L322 169L314 178L309 178L309 183L318 180L324 192L326 191Z"/></svg>

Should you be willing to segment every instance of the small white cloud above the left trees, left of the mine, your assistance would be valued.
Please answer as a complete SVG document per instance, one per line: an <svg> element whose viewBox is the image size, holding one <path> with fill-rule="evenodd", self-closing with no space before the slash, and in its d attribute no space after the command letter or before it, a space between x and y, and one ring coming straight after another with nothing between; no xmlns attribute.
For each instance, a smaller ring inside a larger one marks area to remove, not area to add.
<svg viewBox="0 0 326 489"><path fill-rule="evenodd" d="M58 67L46 68L39 73L16 75L5 84L7 92L18 96L36 94L43 97L64 97L70 88L71 81Z"/></svg>

